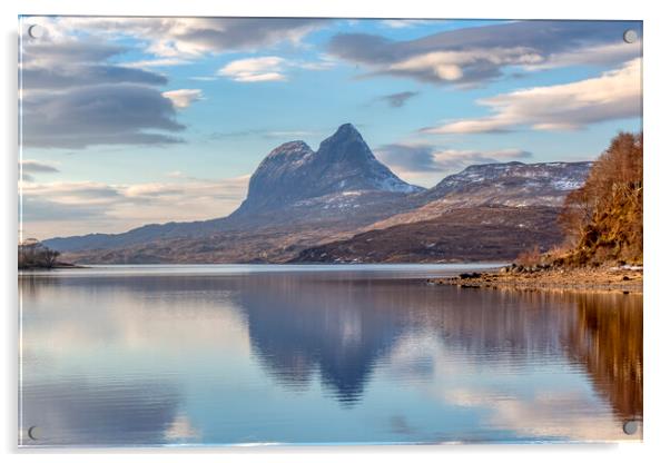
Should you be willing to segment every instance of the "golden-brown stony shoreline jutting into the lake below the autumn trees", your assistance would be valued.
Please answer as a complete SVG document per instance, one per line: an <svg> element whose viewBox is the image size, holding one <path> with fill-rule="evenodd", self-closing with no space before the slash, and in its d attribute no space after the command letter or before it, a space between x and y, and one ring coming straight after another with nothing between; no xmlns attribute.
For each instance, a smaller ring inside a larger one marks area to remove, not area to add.
<svg viewBox="0 0 670 463"><path fill-rule="evenodd" d="M509 267L504 267L509 268ZM643 270L625 267L483 272L428 278L430 285L494 289L568 289L642 294Z"/></svg>

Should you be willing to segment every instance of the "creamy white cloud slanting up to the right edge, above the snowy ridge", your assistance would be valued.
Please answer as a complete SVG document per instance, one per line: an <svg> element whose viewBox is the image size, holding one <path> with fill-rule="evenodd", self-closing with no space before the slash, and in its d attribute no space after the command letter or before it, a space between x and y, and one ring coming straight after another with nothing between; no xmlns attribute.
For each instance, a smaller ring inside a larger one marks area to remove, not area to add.
<svg viewBox="0 0 670 463"><path fill-rule="evenodd" d="M571 83L534 87L477 101L491 116L449 121L426 134L495 132L531 127L574 130L604 120L641 117L641 58L601 76Z"/></svg>

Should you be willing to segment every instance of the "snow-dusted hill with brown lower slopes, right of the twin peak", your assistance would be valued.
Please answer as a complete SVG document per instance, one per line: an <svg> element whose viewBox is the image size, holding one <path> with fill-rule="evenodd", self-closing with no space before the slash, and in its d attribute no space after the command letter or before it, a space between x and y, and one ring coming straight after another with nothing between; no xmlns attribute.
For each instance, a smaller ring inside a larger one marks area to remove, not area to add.
<svg viewBox="0 0 670 463"><path fill-rule="evenodd" d="M509 260L562 242L565 196L592 162L485 164L445 177L415 195L421 206L362 233L303 249L292 262L394 263Z"/></svg>

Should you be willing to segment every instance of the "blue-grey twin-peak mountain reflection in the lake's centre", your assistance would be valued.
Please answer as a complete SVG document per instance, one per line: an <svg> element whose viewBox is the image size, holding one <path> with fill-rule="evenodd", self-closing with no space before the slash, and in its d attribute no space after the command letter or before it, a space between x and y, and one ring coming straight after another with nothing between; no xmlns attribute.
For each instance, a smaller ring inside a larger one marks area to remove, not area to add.
<svg viewBox="0 0 670 463"><path fill-rule="evenodd" d="M239 301L254 351L279 383L300 388L318 371L337 401L353 404L406 327L381 288L395 293L381 280L259 276L243 282Z"/></svg>

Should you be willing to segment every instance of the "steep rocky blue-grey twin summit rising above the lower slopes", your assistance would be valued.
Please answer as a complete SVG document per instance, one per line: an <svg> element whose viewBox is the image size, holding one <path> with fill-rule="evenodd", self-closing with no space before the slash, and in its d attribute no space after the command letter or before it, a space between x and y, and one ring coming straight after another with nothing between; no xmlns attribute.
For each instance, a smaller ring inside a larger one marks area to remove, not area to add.
<svg viewBox="0 0 670 463"><path fill-rule="evenodd" d="M275 148L252 176L247 199L236 214L346 191L418 190L380 162L354 126L345 124L322 141L316 152L304 141Z"/></svg>

